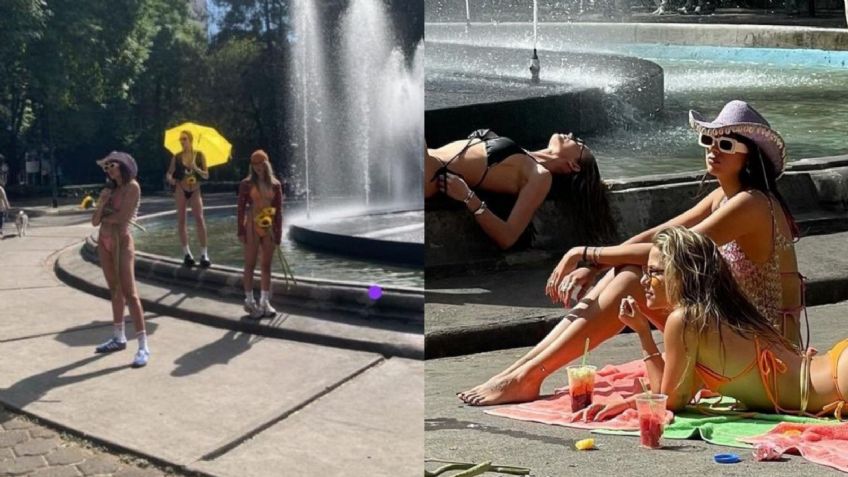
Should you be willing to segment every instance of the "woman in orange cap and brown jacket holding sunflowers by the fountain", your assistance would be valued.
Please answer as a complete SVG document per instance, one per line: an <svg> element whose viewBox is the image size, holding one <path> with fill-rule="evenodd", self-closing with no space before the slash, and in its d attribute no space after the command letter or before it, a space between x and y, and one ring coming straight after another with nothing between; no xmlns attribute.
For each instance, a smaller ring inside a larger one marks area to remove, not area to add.
<svg viewBox="0 0 848 477"><path fill-rule="evenodd" d="M244 244L244 310L252 318L271 317L271 259L283 239L283 185L265 151L250 155L250 172L239 184L238 237ZM253 271L260 257L261 295L253 297Z"/></svg>

